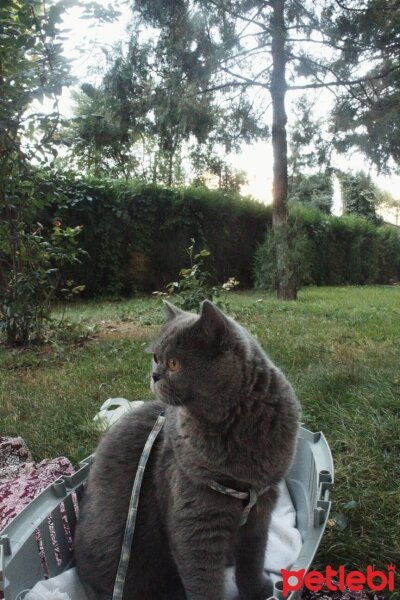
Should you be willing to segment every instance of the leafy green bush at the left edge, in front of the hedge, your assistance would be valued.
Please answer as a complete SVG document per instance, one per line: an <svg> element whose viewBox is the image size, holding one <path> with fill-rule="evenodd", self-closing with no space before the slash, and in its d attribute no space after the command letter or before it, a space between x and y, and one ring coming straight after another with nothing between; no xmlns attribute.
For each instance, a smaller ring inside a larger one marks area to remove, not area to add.
<svg viewBox="0 0 400 600"><path fill-rule="evenodd" d="M84 252L80 227L57 220L44 226L38 218L57 189L39 171L17 164L16 172L26 179L7 180L0 194L0 333L9 345L26 346L44 340L57 295L70 298L84 288L64 277Z"/></svg>

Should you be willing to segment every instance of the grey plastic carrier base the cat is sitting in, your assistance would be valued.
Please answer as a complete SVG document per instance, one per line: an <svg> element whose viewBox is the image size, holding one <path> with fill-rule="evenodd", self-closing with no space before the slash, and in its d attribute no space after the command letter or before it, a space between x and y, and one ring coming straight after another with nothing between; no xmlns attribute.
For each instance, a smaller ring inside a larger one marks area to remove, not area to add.
<svg viewBox="0 0 400 600"><path fill-rule="evenodd" d="M23 600L25 591L40 580L73 567L72 539L77 510L92 462L93 456L85 459L72 476L55 481L0 532L0 591L5 600ZM333 461L321 432L312 433L301 427L286 486L302 540L300 553L290 568L307 571L331 506ZM298 600L300 595L301 590L292 592L288 598ZM274 599L283 600L281 581L274 584L270 600Z"/></svg>

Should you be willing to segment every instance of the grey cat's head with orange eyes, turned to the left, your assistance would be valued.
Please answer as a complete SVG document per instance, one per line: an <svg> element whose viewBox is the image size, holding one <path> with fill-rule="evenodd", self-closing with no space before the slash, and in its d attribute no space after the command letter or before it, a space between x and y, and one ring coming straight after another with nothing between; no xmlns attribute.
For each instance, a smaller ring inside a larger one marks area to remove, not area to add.
<svg viewBox="0 0 400 600"><path fill-rule="evenodd" d="M151 345L151 388L167 404L219 421L243 377L240 331L212 302L200 315L165 303L167 324ZM235 393L236 392L236 393Z"/></svg>

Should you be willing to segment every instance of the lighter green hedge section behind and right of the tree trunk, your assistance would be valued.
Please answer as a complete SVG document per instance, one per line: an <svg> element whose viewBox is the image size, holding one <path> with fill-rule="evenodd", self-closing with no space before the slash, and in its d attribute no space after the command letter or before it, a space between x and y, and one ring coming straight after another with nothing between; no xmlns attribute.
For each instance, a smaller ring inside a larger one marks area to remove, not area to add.
<svg viewBox="0 0 400 600"><path fill-rule="evenodd" d="M290 211L299 243L294 263L300 285L383 284L400 280L400 229L375 225L364 217L328 216L302 205ZM273 237L267 231L255 255L257 287L274 287Z"/></svg>

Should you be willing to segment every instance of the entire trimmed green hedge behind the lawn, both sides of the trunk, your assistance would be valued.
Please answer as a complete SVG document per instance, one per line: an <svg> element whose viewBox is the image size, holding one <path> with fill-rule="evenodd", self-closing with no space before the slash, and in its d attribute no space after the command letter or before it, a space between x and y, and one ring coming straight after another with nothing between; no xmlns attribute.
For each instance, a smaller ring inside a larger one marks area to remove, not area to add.
<svg viewBox="0 0 400 600"><path fill-rule="evenodd" d="M189 266L186 248L211 252L215 283L274 287L272 211L249 198L191 187L52 175L53 205L41 215L83 225L88 253L70 276L85 294L122 295L163 290ZM389 283L400 279L400 229L363 217L333 217L304 204L290 210L293 268L299 285ZM267 232L267 233L266 233Z"/></svg>

